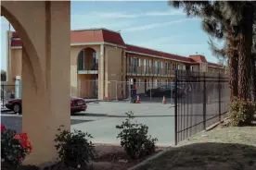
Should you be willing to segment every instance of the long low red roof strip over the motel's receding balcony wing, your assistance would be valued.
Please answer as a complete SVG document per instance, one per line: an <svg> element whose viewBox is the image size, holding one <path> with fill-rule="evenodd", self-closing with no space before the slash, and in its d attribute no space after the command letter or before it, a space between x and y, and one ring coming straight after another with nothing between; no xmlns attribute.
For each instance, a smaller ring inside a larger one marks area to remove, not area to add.
<svg viewBox="0 0 256 170"><path fill-rule="evenodd" d="M186 56L172 55L172 54L159 52L156 50L151 50L148 48L139 47L139 46L130 45L130 44L126 44L126 51L128 51L127 53L135 52L135 53L145 54L145 55L162 56L162 57L166 57L166 58L170 58L170 59L174 59L174 60L180 60L180 61L184 61L184 62L194 62L194 60L192 60L191 58L188 58Z"/></svg>

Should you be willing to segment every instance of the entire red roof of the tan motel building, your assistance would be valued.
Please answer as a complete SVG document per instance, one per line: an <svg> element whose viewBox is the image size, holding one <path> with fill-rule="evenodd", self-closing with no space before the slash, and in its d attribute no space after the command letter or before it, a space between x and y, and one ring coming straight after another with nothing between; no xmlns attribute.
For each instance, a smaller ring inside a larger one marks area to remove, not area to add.
<svg viewBox="0 0 256 170"><path fill-rule="evenodd" d="M11 46L22 46L22 42L19 39L17 32L12 32L13 39ZM134 52L144 55L155 55L173 60L179 60L184 62L207 62L203 55L190 55L189 57L181 55L168 54L145 47L139 47L135 45L125 44L122 40L122 36L119 32L107 30L107 29L91 29L91 30L71 30L70 31L70 42L71 43L85 43L85 42L109 42L121 46L126 46L126 51ZM208 63L210 67L223 67L218 64Z"/></svg>

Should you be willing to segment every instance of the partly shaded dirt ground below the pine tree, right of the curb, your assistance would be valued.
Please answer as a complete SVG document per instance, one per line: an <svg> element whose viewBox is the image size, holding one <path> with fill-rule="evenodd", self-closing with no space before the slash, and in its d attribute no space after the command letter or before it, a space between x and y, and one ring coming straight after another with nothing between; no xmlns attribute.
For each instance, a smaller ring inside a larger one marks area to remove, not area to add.
<svg viewBox="0 0 256 170"><path fill-rule="evenodd" d="M255 170L256 127L218 128L181 142L136 170Z"/></svg>

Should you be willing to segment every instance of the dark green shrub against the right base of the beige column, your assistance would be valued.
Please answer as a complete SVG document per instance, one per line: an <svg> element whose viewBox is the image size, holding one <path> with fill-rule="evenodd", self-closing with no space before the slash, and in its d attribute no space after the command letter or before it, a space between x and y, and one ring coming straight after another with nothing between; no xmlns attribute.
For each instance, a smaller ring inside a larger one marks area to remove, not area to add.
<svg viewBox="0 0 256 170"><path fill-rule="evenodd" d="M70 132L58 128L58 131L55 147L61 164L64 164L69 169L86 168L89 159L94 158L96 155L92 141L86 139L93 137L88 133L83 133L81 130Z"/></svg>

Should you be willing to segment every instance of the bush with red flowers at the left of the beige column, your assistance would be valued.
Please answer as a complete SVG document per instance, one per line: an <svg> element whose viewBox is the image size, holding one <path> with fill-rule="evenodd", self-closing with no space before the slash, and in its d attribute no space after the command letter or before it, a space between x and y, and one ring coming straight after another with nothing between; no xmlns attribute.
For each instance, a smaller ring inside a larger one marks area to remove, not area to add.
<svg viewBox="0 0 256 170"><path fill-rule="evenodd" d="M32 152L32 144L27 133L17 134L15 130L1 125L1 158L2 164L18 167L25 157Z"/></svg>

